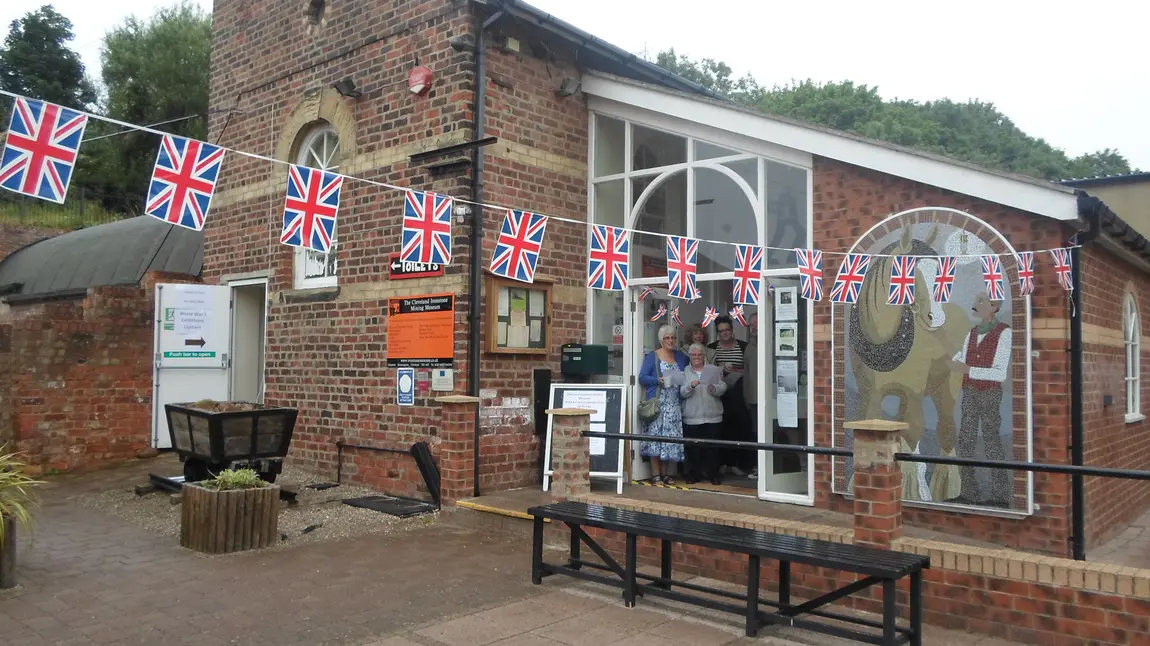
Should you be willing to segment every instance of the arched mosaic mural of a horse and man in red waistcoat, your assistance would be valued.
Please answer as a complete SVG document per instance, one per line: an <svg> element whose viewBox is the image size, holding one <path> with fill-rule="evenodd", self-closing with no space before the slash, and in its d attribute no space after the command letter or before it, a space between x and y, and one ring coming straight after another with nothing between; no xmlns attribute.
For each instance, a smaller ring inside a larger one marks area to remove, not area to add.
<svg viewBox="0 0 1150 646"><path fill-rule="evenodd" d="M1000 301L988 297L976 257L1006 251L1003 243L979 221L938 209L898 216L856 251L919 256L915 299L888 305L891 259L874 257L858 303L835 307L835 444L851 445L842 422L885 418L910 426L902 437L906 453L1025 460L1025 300L1012 282L1012 257L1003 259ZM958 260L950 302L937 303L933 256L946 255L968 257ZM1025 506L1026 477L1011 471L912 462L902 469L904 500ZM849 460L836 463L835 476L836 491L850 492Z"/></svg>

